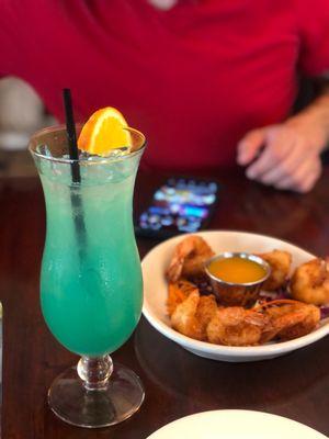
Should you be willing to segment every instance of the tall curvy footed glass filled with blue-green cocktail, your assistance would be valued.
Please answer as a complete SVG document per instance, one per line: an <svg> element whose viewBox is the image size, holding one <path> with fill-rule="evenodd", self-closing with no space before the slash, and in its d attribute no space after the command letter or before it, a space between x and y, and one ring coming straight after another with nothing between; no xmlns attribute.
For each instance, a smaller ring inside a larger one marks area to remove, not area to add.
<svg viewBox="0 0 329 439"><path fill-rule="evenodd" d="M133 333L143 303L132 199L145 137L129 131L132 153L109 158L70 160L63 126L30 144L47 212L42 311L57 340L82 357L55 380L48 402L61 419L90 428L126 419L144 399L138 376L109 356Z"/></svg>

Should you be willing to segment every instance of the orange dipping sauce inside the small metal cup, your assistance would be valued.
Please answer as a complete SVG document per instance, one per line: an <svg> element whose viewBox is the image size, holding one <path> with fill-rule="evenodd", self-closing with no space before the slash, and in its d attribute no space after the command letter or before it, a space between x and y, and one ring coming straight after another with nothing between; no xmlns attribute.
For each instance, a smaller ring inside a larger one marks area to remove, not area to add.
<svg viewBox="0 0 329 439"><path fill-rule="evenodd" d="M208 271L224 282L242 284L258 282L266 274L266 270L258 262L238 256L212 261Z"/></svg>

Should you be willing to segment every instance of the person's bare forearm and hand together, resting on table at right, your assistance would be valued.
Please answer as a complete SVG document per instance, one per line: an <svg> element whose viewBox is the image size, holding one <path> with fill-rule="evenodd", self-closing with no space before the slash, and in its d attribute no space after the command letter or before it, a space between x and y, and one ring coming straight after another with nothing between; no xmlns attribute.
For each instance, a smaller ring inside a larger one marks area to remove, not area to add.
<svg viewBox="0 0 329 439"><path fill-rule="evenodd" d="M329 143L329 75L317 80L318 97L282 124L253 130L238 145L246 175L277 189L308 192L321 173ZM260 153L261 151L261 153Z"/></svg>

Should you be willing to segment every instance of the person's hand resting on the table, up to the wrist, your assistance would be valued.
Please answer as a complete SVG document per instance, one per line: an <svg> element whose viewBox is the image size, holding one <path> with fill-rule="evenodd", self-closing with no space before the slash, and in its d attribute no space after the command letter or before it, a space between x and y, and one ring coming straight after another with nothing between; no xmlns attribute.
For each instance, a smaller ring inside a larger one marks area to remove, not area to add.
<svg viewBox="0 0 329 439"><path fill-rule="evenodd" d="M308 192L321 175L320 151L326 140L314 125L281 124L253 130L239 142L239 165L253 161L249 179L277 189Z"/></svg>

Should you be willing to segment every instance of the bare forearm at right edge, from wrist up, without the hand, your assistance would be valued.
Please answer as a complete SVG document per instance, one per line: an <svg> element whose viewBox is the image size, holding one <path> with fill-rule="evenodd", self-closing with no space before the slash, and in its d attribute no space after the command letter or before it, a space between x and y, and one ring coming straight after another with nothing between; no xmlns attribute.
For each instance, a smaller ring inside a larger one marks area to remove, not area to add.
<svg viewBox="0 0 329 439"><path fill-rule="evenodd" d="M311 133L316 148L324 150L329 144L329 79L319 80L317 98L303 111L290 117L287 126L297 128L300 134Z"/></svg>

